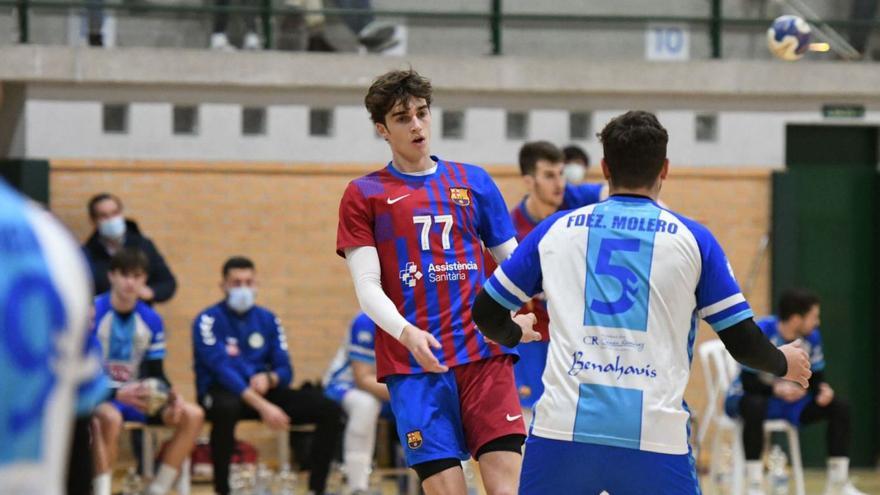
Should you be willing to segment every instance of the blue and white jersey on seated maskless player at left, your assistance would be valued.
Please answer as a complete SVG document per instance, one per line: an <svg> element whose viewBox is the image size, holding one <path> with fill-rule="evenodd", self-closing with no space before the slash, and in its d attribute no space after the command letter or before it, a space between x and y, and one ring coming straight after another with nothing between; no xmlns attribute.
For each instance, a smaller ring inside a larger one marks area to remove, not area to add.
<svg viewBox="0 0 880 495"><path fill-rule="evenodd" d="M129 314L110 304L110 293L95 298L95 326L111 386L119 388L140 378L143 361L165 358L165 330L153 308L138 301Z"/></svg>

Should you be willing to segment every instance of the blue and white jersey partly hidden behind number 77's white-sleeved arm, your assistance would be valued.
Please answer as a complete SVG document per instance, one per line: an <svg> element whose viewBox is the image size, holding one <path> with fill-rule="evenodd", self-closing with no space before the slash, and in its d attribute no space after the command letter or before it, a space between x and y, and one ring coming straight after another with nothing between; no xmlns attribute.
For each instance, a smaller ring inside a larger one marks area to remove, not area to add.
<svg viewBox="0 0 880 495"><path fill-rule="evenodd" d="M365 313L359 313L351 322L345 343L336 351L330 368L324 375L324 393L342 402L346 392L355 388L352 361L376 366L376 324Z"/></svg>

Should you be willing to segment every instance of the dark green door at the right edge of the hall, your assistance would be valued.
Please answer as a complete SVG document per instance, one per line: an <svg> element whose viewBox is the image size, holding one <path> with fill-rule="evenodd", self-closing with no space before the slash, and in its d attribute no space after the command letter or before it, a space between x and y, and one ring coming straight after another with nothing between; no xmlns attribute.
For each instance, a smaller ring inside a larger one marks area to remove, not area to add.
<svg viewBox="0 0 880 495"><path fill-rule="evenodd" d="M878 130L790 125L773 176L773 301L787 287L822 299L826 379L851 404L853 465L878 446ZM804 462L824 466L825 425L801 429Z"/></svg>

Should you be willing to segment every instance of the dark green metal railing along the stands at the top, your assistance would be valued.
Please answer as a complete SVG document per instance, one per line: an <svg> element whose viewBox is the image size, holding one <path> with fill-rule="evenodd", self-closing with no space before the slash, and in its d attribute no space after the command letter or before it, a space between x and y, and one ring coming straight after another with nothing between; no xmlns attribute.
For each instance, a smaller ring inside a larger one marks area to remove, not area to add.
<svg viewBox="0 0 880 495"><path fill-rule="evenodd" d="M506 22L518 23L593 23L593 24L646 24L646 23L687 23L703 25L709 31L709 52L712 58L722 57L722 37L725 27L739 29L765 29L773 19L765 18L731 18L724 17L721 11L722 0L710 0L709 16L626 16L626 15L576 15L576 14L521 14L507 13L502 8L502 0L491 0L488 12L452 12L452 11L418 11L418 10L381 10L381 9L342 9L324 8L315 10L298 9L289 6L275 6L272 0L259 0L257 5L187 5L187 4L128 4L122 1L102 2L101 8L111 11L138 11L158 14L204 14L217 13L250 14L261 19L264 32L264 46L273 48L272 19L283 15L322 14L325 16L374 16L403 17L414 19L453 19L483 21L487 23L491 40L492 55L502 55L503 31ZM0 7L12 7L17 10L19 24L19 42L29 43L30 17L33 9L87 9L94 3L87 0L0 0ZM812 24L824 24L835 29L878 28L878 19L807 19Z"/></svg>

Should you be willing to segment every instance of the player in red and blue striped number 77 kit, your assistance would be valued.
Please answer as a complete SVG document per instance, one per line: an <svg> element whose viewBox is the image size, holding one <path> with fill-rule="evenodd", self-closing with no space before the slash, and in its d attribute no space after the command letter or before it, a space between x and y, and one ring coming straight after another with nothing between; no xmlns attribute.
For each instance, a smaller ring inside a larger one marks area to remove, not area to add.
<svg viewBox="0 0 880 495"><path fill-rule="evenodd" d="M514 493L525 438L515 351L487 342L470 308L485 278L482 245L503 260L515 232L486 171L430 154L431 93L413 70L370 86L365 104L391 161L346 188L337 253L361 308L384 330L378 377L425 491L464 493L460 461L471 455L489 494Z"/></svg>

